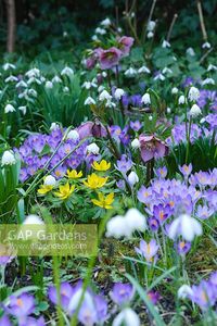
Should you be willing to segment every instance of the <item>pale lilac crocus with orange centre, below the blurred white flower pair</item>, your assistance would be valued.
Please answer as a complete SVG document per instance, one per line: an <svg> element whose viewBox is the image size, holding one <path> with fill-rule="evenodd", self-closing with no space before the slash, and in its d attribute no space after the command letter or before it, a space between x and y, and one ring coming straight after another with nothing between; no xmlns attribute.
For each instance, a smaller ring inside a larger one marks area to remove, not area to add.
<svg viewBox="0 0 217 326"><path fill-rule="evenodd" d="M152 239L149 243L144 240L140 241L140 247L135 248L136 252L145 258L148 263L156 261L156 254L159 246L156 243L155 239ZM155 258L155 260L154 260Z"/></svg>

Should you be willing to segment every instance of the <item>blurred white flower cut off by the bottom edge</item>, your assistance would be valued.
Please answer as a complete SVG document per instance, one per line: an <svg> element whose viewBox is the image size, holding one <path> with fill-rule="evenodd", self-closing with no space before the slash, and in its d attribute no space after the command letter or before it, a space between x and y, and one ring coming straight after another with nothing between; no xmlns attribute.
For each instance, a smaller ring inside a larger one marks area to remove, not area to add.
<svg viewBox="0 0 217 326"><path fill-rule="evenodd" d="M131 308L125 308L114 318L112 326L140 326L140 318Z"/></svg>

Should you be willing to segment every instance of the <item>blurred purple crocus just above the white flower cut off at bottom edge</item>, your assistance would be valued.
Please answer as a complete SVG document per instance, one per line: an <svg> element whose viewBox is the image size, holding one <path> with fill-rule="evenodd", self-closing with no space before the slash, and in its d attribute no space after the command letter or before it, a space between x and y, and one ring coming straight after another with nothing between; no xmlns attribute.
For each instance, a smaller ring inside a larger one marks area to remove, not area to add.
<svg viewBox="0 0 217 326"><path fill-rule="evenodd" d="M118 305L128 303L133 296L135 289L132 285L124 283L116 283L110 292L110 297Z"/></svg>

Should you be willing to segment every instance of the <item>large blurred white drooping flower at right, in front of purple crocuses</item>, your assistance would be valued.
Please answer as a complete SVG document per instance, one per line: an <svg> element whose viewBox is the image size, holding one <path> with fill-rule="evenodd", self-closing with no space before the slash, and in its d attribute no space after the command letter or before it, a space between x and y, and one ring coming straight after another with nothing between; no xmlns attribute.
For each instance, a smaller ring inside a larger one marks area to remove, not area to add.
<svg viewBox="0 0 217 326"><path fill-rule="evenodd" d="M178 236L187 241L192 241L195 236L202 235L201 224L188 214L182 214L175 218L169 226L168 236L175 240Z"/></svg>

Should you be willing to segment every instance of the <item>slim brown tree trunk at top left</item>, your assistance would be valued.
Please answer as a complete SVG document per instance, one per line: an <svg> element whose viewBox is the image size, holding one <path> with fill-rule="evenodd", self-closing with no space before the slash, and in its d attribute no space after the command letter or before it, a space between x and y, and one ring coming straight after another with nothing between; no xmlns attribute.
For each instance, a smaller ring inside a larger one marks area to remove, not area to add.
<svg viewBox="0 0 217 326"><path fill-rule="evenodd" d="M14 52L15 30L16 30L15 1L5 0L5 3L7 3L7 16L8 16L7 51Z"/></svg>

